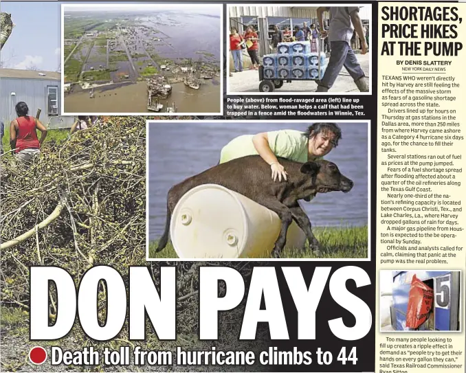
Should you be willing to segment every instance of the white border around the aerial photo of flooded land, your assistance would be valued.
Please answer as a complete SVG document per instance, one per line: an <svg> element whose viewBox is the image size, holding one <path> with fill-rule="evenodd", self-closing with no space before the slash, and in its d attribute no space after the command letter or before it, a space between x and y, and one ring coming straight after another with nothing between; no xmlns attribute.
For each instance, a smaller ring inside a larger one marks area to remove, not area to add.
<svg viewBox="0 0 466 373"><path fill-rule="evenodd" d="M148 113L115 113L115 112L112 112L112 113L65 113L65 89L64 89L64 84L65 84L65 64L64 64L64 60L65 60L65 48L64 48L64 44L65 44L65 7L68 7L68 8L83 8L83 7L87 7L89 8L89 6L93 6L93 5L98 5L98 6L104 6L104 7L111 7L115 4L118 4L118 5L126 5L126 4L129 4L135 8L143 8L143 7L147 7L148 5L154 7L155 5L155 8L157 6L166 6L166 5L169 5L170 7L174 7L174 8L183 8L184 6L186 6L186 4L180 4L180 3L131 3L131 2L120 2L120 1L115 1L115 3L96 3L94 1L89 1L89 3L61 3L61 31L60 31L60 38L61 38L61 42L60 42L60 63L61 63L61 85L60 85L60 88L61 88L61 94L60 94L60 100L61 100L61 109L60 109L60 113L61 115L69 115L69 116L72 116L72 115L131 115L131 116L136 116L136 115L142 115L144 117L150 117L150 116L172 116L172 115L175 115L175 116L184 116L184 115L194 115L194 116L197 116L197 115L202 115L202 116L208 116L208 115L221 115L223 116L223 4L210 4L210 3L192 3L192 5L212 5L213 6L218 6L219 7L219 11L220 11L220 112L219 113L157 113L157 112L148 112Z"/></svg>

